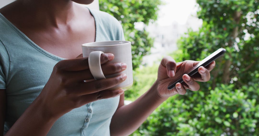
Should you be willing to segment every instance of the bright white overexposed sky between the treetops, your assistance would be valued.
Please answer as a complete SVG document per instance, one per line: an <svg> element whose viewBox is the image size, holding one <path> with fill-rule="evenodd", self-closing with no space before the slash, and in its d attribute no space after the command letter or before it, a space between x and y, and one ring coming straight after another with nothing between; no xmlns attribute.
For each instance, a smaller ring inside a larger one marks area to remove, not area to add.
<svg viewBox="0 0 259 136"><path fill-rule="evenodd" d="M196 0L162 0L157 23L160 26L170 26L176 21L185 24L190 15L196 14Z"/></svg>

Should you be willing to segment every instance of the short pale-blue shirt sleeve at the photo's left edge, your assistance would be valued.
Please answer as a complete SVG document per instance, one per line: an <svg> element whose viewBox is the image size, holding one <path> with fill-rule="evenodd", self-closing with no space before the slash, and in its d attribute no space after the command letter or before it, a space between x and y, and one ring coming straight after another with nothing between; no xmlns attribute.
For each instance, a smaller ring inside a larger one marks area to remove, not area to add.
<svg viewBox="0 0 259 136"><path fill-rule="evenodd" d="M9 72L9 55L0 40L0 89L6 89L6 78Z"/></svg>

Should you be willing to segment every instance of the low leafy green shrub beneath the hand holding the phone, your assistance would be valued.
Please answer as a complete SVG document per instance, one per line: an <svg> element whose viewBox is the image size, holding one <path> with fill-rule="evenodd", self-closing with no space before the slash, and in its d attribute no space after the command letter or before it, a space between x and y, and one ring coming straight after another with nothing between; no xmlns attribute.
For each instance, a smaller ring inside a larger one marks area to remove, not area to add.
<svg viewBox="0 0 259 136"><path fill-rule="evenodd" d="M170 97L132 135L258 135L258 87L221 84Z"/></svg>

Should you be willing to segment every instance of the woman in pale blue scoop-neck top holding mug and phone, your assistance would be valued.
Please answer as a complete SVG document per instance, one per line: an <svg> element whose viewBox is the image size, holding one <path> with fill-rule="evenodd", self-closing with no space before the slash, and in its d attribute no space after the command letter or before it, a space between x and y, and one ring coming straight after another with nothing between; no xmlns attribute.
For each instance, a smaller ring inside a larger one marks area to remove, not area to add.
<svg viewBox="0 0 259 136"><path fill-rule="evenodd" d="M208 81L215 62L199 67L194 77L167 90L170 81L196 65L164 57L153 86L124 105L123 90L107 90L127 77L92 82L81 45L124 40L120 23L111 15L80 4L92 0L18 0L0 9L0 133L5 135L129 135L168 97L197 91ZM80 4L78 4L80 3ZM78 56L79 55L79 56ZM126 69L106 64L105 75ZM120 96L120 97L118 97Z"/></svg>

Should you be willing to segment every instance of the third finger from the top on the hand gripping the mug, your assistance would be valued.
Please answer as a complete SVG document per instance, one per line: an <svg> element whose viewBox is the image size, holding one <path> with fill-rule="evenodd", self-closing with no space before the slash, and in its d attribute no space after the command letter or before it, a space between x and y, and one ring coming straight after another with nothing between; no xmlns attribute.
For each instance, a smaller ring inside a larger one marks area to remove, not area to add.
<svg viewBox="0 0 259 136"><path fill-rule="evenodd" d="M126 74L118 75L116 77L100 79L91 82L83 82L81 86L77 86L76 90L78 95L87 95L95 92L99 92L102 90L106 90L112 88L121 82L125 81L127 78Z"/></svg>

